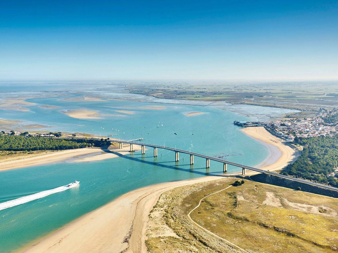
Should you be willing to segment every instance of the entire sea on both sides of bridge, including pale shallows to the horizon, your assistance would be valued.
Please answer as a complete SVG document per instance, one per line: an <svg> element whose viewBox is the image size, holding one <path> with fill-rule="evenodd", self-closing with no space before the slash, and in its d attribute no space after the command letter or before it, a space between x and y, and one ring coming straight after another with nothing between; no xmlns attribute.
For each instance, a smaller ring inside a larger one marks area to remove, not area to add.
<svg viewBox="0 0 338 253"><path fill-rule="evenodd" d="M83 101L84 96L104 101ZM236 106L227 103L166 100L131 94L118 82L1 82L0 104L25 98L27 111L0 106L0 118L17 120L29 131L89 133L123 140L143 138L153 143L199 152L224 160L256 166L269 155L265 145L233 124L234 120L267 120L292 112L270 107ZM69 101L72 100L72 101ZM75 101L74 101L75 100ZM78 100L78 101L77 101ZM53 106L50 109L41 106ZM227 110L229 108L229 110ZM96 111L97 119L78 119L65 114L72 110ZM130 111L124 113L119 111ZM190 112L203 114L187 116ZM151 149L117 158L74 163L71 160L0 172L0 203L66 185L78 187L0 211L0 252L15 252L32 244L80 216L129 191L158 184L207 175L223 175L222 164L172 151ZM228 173L239 168L228 166Z"/></svg>

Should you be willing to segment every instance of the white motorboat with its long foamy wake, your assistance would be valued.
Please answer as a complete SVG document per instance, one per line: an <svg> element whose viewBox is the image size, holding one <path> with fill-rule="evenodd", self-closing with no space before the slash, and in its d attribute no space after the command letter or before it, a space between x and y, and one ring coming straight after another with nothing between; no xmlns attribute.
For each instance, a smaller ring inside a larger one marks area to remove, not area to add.
<svg viewBox="0 0 338 253"><path fill-rule="evenodd" d="M6 208L9 208L9 207L13 207L13 206L16 206L16 205L21 205L21 204L27 203L27 202L35 200L35 199L40 199L40 198L46 197L48 195L51 195L51 194L54 194L54 193L57 193L57 192L65 191L67 189L70 189L70 188L77 186L79 183L80 183L79 181L75 181L75 182L72 182L72 183L65 185L65 186L57 187L57 188L47 190L47 191L43 191L43 192L34 193L34 194L31 194L31 195L28 195L28 196L24 196L24 197L20 197L20 198L17 198L17 199L13 199L13 200L9 200L9 201L0 203L0 210L6 209Z"/></svg>

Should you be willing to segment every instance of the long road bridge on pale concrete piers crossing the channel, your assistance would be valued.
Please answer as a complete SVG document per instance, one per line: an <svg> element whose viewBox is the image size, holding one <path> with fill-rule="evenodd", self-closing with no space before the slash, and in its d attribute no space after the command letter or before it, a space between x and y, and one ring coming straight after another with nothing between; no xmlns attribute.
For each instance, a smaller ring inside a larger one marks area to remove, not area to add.
<svg viewBox="0 0 338 253"><path fill-rule="evenodd" d="M243 165L243 164L230 162L230 161L225 161L225 160L222 160L222 159L219 159L219 158L210 157L210 156L207 156L207 155L204 155L204 154L190 152L190 151L183 150L183 149L165 147L165 146L160 146L160 145L155 145L155 144L147 144L147 143L142 143L142 142L134 142L134 140L132 140L132 141L109 140L109 141L119 143L120 144L119 148L123 148L123 144L129 144L130 152L134 151L134 149L133 149L134 144L139 145L139 146L141 146L141 153L142 154L145 154L145 147L152 147L154 149L154 157L157 157L157 153L158 153L157 149L158 148L171 150L171 151L175 152L175 161L176 162L179 161L179 153L189 154L190 155L190 165L194 164L194 156L206 159L206 168L210 168L210 160L220 162L220 163L223 164L223 172L224 173L227 172L227 165L233 165L233 166L236 166L236 167L239 167L239 168L242 169L242 175L246 174L246 170L251 170L251 171L256 171L256 172L259 172L259 173L264 173L264 174L269 174L269 175L287 178L287 179L290 179L290 180L293 180L293 181L297 181L297 182L301 182L301 183L305 183L305 184L309 184L309 185L319 186L319 187L322 187L322 188L325 188L325 189L338 191L338 188L335 188L335 187L332 187L332 186L329 186L329 185L322 185L322 184L312 182L312 181L309 181L309 180L291 177L291 176L287 176L287 175L282 175L282 174L275 173L275 172L272 172L272 171L262 170L262 169L258 169L258 168L246 166L246 165Z"/></svg>

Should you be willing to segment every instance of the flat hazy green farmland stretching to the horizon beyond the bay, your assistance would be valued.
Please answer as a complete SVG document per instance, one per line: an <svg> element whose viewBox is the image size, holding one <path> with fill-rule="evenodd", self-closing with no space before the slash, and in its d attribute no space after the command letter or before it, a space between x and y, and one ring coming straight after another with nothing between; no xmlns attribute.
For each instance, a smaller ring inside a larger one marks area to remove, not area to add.
<svg viewBox="0 0 338 253"><path fill-rule="evenodd" d="M299 109L307 112L316 112L319 108L332 109L338 105L338 85L335 82L187 82L179 84L169 82L162 85L133 85L128 87L128 90L166 99L226 101L234 104ZM302 115L297 117L302 117Z"/></svg>

